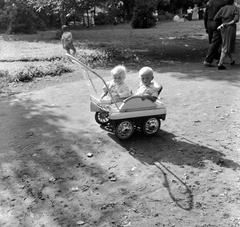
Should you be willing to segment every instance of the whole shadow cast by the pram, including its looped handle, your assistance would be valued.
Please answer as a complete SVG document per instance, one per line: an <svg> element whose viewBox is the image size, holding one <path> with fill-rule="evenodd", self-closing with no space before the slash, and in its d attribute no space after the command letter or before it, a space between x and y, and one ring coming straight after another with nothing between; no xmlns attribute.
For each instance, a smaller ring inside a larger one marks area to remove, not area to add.
<svg viewBox="0 0 240 227"><path fill-rule="evenodd" d="M192 188L187 185L185 178L178 176L180 172L171 170L171 164L180 169L189 166L201 170L206 168L209 162L214 164L213 167L216 169L220 167L236 171L240 168L238 163L225 158L218 150L186 138L179 138L163 130L154 136L136 132L130 139L124 141L118 140L113 134L108 135L144 165L157 167L161 175L156 171L156 176L162 178L162 185L167 189L172 201L184 210L193 208ZM176 188L176 184L179 188Z"/></svg>

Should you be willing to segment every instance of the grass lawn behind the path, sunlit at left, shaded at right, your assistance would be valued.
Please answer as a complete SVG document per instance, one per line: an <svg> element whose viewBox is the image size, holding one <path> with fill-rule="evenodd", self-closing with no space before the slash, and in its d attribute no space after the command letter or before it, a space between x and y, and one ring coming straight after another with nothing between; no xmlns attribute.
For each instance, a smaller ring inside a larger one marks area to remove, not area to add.
<svg viewBox="0 0 240 227"><path fill-rule="evenodd" d="M72 33L77 57L92 67L199 61L208 46L203 21L160 21L150 29L132 29L130 24L120 24L73 29ZM61 73L74 71L56 34L59 30L32 35L2 34L1 81L59 75L59 68Z"/></svg>

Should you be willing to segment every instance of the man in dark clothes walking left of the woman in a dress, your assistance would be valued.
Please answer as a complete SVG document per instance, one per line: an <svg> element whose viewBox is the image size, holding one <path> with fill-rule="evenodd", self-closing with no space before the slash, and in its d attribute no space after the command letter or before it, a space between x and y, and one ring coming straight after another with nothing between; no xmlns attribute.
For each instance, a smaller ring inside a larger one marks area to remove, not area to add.
<svg viewBox="0 0 240 227"><path fill-rule="evenodd" d="M206 5L204 25L206 32L208 33L210 46L203 62L203 65L205 66L211 66L214 59L219 60L220 58L219 48L222 44L222 37L220 30L217 29L220 23L215 21L214 17L218 10L225 5L225 0L209 0Z"/></svg>

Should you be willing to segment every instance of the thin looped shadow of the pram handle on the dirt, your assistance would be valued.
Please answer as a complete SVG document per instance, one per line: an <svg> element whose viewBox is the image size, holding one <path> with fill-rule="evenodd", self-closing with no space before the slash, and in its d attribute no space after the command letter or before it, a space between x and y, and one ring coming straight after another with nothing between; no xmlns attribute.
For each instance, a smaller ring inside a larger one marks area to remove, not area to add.
<svg viewBox="0 0 240 227"><path fill-rule="evenodd" d="M154 165L161 170L161 172L163 173L163 176L164 176L164 182L163 182L163 186L165 188L167 188L168 190L168 193L171 197L171 199L182 209L184 210L192 210L193 208L193 194L192 194L192 191L190 190L190 188L179 178L177 177L172 171L170 171L165 165L163 165L162 163L160 162L154 162ZM167 174L161 169L161 167L159 166L161 165L166 171L168 171L171 175L173 175L179 182L181 182L181 184L184 185L184 187L186 188L186 193L188 193L188 198L189 198L189 207L183 207L179 202L178 200L174 197L174 195L172 194L171 192L171 189L170 189L170 186L169 186L169 183L168 183L168 179L167 179Z"/></svg>

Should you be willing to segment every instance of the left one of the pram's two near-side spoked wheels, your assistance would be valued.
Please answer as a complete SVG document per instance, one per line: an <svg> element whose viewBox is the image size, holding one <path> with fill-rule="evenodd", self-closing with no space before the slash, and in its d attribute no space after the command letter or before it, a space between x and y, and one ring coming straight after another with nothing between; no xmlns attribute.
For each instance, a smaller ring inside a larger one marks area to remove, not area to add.
<svg viewBox="0 0 240 227"><path fill-rule="evenodd" d="M119 122L115 127L115 135L121 140L128 139L134 132L134 125L129 120Z"/></svg>

